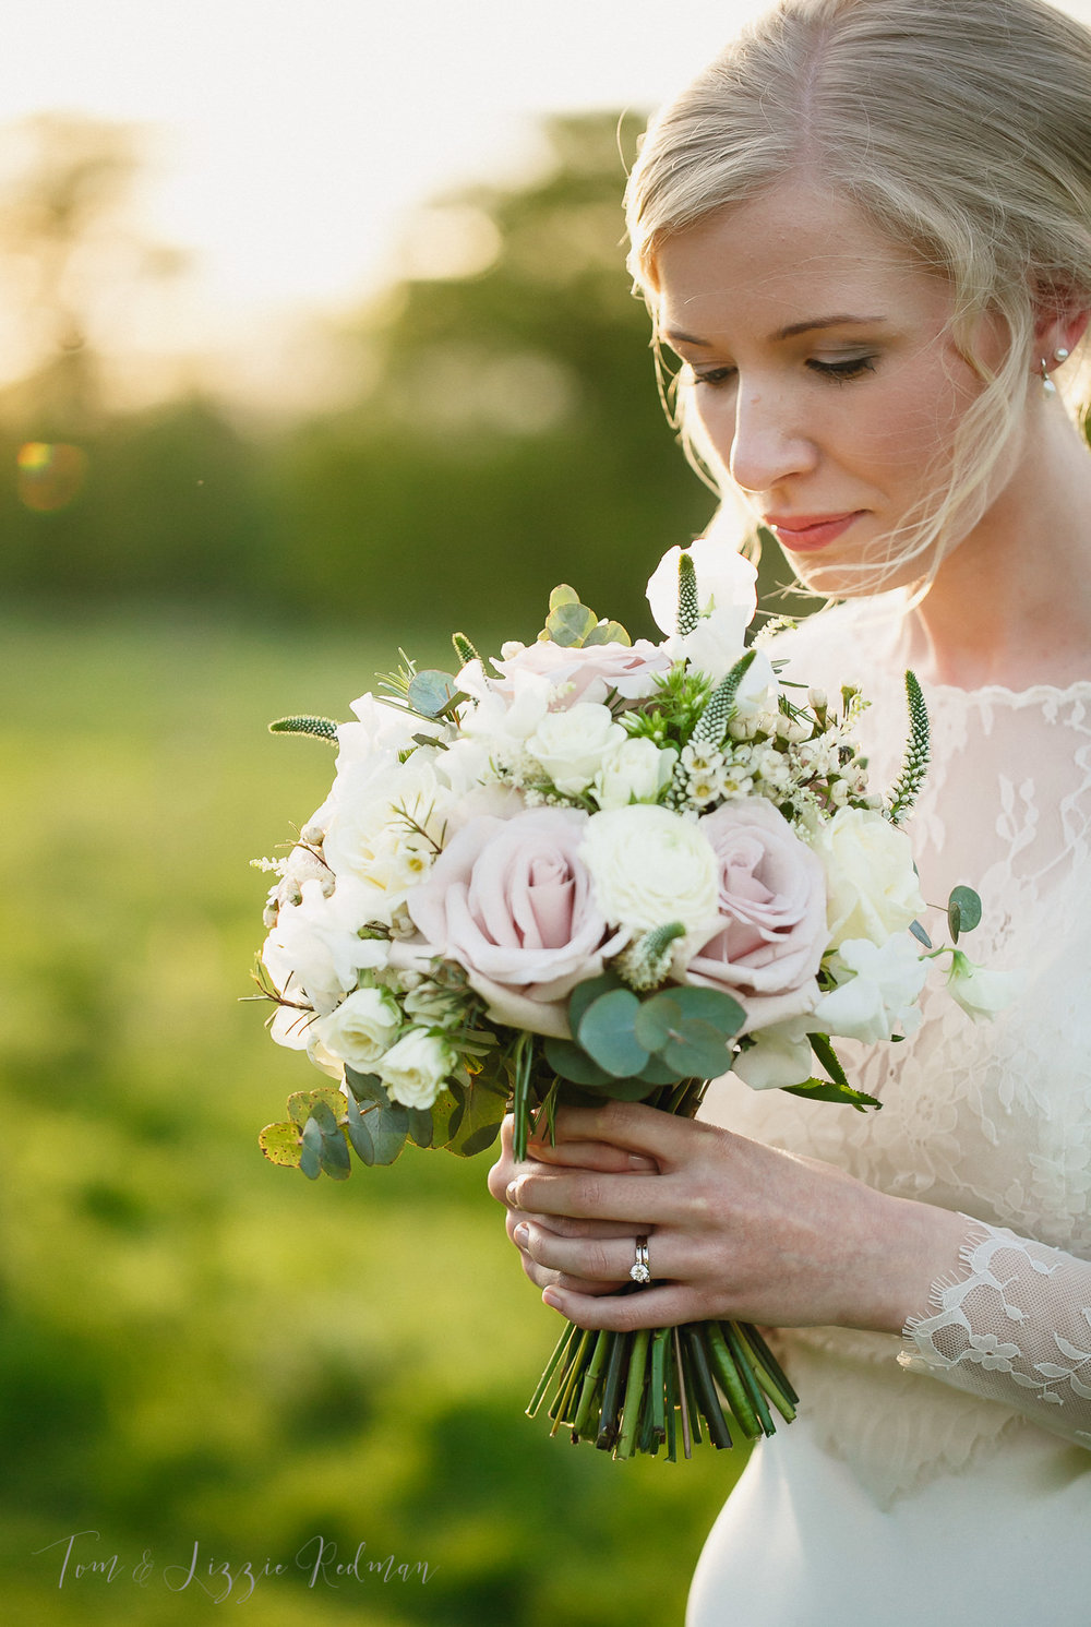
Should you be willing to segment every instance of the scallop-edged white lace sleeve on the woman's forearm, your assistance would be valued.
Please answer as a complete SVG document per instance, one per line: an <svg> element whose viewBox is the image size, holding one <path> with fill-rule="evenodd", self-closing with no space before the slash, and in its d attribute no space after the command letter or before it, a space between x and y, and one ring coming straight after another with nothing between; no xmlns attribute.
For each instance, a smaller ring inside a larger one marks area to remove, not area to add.
<svg viewBox="0 0 1091 1627"><path fill-rule="evenodd" d="M1091 1448L1091 1263L963 1219L964 1274L932 1285L898 1360Z"/></svg>

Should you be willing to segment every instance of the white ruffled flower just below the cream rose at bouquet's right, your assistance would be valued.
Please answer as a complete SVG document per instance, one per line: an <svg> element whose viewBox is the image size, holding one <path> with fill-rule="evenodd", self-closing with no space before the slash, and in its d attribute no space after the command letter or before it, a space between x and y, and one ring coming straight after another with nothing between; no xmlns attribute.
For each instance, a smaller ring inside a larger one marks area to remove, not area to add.
<svg viewBox="0 0 1091 1627"><path fill-rule="evenodd" d="M849 939L831 962L837 988L813 1014L815 1033L876 1045L920 1027L917 999L928 975L915 940L898 932L885 944ZM844 979L844 981L842 981Z"/></svg>

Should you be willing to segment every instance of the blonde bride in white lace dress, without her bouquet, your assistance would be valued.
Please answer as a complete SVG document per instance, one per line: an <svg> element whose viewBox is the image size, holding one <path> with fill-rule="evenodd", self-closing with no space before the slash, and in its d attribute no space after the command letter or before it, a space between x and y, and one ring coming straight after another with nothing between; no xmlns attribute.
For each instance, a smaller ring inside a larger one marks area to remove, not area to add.
<svg viewBox="0 0 1091 1627"><path fill-rule="evenodd" d="M507 1136L489 1186L580 1326L776 1329L802 1414L691 1627L1081 1622L1091 457L1054 374L1078 387L1091 311L1091 34L1039 0L780 0L655 119L628 212L722 513L842 600L774 652L860 682L876 784L919 674L922 888L980 892L971 953L1016 996L845 1045L867 1118L728 1075L698 1123L572 1110L522 1165ZM636 1237L654 1280L619 1295Z"/></svg>

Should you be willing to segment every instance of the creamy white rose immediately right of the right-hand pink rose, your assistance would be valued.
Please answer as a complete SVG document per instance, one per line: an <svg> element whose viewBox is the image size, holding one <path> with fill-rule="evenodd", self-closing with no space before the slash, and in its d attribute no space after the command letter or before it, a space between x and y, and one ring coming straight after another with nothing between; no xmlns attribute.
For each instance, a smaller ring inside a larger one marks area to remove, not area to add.
<svg viewBox="0 0 1091 1627"><path fill-rule="evenodd" d="M826 870L829 945L885 944L925 909L904 831L870 809L839 809L811 843Z"/></svg>

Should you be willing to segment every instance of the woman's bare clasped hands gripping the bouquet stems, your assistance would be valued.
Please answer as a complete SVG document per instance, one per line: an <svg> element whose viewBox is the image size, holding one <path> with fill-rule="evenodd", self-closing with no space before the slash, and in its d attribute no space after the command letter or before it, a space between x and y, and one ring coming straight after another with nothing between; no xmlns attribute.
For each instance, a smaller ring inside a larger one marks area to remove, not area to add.
<svg viewBox="0 0 1091 1627"><path fill-rule="evenodd" d="M899 1333L958 1261L958 1215L715 1124L605 1101L558 1113L556 1129L556 1147L533 1142L522 1165L509 1139L489 1189L543 1300L582 1328L732 1318ZM652 1287L618 1295L637 1237Z"/></svg>

